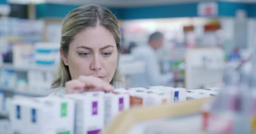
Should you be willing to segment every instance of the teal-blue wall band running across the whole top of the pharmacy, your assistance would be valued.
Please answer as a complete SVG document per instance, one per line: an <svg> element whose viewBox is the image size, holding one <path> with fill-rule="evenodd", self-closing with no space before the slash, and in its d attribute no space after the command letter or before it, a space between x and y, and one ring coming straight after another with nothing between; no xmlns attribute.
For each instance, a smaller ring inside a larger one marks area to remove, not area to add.
<svg viewBox="0 0 256 134"><path fill-rule="evenodd" d="M6 0L5 0L6 1ZM248 17L256 17L256 4L218 1L218 16L234 17L239 9L246 10ZM196 17L198 3L161 5L139 8L109 8L118 19ZM39 4L37 18L64 18L79 5Z"/></svg>

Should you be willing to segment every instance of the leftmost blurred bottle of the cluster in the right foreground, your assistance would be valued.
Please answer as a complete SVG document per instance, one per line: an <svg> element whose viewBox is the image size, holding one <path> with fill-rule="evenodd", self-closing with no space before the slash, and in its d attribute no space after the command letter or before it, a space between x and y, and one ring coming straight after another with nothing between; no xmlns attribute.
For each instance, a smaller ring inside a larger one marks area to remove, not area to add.
<svg viewBox="0 0 256 134"><path fill-rule="evenodd" d="M232 134L235 122L235 111L238 109L237 102L239 88L239 73L228 68L224 75L224 87L219 96L213 101L208 121L208 131Z"/></svg>

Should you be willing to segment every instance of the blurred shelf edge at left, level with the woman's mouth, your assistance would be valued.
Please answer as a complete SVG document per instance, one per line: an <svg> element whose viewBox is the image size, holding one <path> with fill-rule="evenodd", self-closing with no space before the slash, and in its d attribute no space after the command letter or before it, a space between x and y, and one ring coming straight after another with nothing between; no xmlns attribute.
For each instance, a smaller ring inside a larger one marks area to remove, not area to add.
<svg viewBox="0 0 256 134"><path fill-rule="evenodd" d="M56 67L38 67L38 66L30 66L30 67L15 67L13 64L3 64L0 65L0 69L5 70L14 70L18 72L27 72L27 71L43 71L43 72L54 72Z"/></svg>

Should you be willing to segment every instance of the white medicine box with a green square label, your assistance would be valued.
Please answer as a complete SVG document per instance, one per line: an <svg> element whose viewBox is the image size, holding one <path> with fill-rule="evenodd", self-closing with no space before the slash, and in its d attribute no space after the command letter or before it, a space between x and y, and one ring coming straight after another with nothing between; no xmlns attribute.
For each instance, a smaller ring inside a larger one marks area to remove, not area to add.
<svg viewBox="0 0 256 134"><path fill-rule="evenodd" d="M38 108L38 117L33 117L31 114L31 117L38 118L38 121L30 121L33 126L31 128L34 129L30 129L33 132L30 134L38 134L36 126L41 128L41 134L51 134L48 131L50 129L53 129L53 134L74 134L75 101L60 97L35 98L35 100L41 104L41 107L31 106L31 113L33 109L35 111Z"/></svg>

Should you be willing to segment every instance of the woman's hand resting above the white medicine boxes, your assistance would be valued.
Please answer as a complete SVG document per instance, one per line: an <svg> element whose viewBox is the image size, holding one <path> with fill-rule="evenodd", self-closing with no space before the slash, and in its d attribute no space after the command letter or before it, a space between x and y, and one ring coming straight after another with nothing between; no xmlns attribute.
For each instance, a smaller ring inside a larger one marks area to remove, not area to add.
<svg viewBox="0 0 256 134"><path fill-rule="evenodd" d="M66 93L83 93L85 91L112 91L115 88L109 83L93 76L80 76L75 80L70 80L65 84Z"/></svg>

